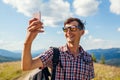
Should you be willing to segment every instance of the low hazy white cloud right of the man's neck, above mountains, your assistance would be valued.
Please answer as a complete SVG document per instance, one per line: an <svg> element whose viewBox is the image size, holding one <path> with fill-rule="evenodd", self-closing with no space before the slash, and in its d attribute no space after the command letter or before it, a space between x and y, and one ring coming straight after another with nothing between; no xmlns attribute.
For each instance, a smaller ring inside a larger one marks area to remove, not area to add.
<svg viewBox="0 0 120 80"><path fill-rule="evenodd" d="M82 45L86 50L89 49L98 49L98 48L111 48L111 47L118 47L119 44L116 41L104 40L101 38L94 38L93 36L86 36L81 41ZM112 46L111 46L112 45ZM119 46L120 47L120 46Z"/></svg>

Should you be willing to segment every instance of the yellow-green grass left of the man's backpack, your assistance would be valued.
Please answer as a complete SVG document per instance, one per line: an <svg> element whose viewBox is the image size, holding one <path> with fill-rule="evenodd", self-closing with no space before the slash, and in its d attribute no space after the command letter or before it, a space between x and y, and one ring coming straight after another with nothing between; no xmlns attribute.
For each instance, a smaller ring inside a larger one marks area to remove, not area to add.
<svg viewBox="0 0 120 80"><path fill-rule="evenodd" d="M0 63L0 80L16 80L24 75L20 67L20 62Z"/></svg>

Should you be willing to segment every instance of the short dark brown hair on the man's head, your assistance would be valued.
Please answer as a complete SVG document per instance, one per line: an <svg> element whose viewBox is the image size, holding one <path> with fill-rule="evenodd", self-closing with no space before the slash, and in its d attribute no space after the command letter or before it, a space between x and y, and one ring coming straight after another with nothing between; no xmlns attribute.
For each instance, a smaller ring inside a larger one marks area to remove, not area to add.
<svg viewBox="0 0 120 80"><path fill-rule="evenodd" d="M79 18L73 18L73 17L68 18L68 19L64 22L64 26L65 26L66 24L69 24L69 23L73 22L73 21L77 21L77 22L78 22L78 27L80 27L80 28L83 29L83 30L85 29L84 23L83 23Z"/></svg>

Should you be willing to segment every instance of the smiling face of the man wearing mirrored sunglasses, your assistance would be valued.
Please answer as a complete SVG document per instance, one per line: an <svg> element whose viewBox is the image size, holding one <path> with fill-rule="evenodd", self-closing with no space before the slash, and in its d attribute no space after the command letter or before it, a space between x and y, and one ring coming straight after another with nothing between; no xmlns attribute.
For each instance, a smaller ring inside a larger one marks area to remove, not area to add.
<svg viewBox="0 0 120 80"><path fill-rule="evenodd" d="M65 33L67 43L79 44L80 38L83 35L84 30L79 30L76 26L78 26L77 21L73 21L73 22L65 25L64 28L66 28L66 31L64 33ZM74 27L75 27L75 29L72 31L72 28L74 28Z"/></svg>

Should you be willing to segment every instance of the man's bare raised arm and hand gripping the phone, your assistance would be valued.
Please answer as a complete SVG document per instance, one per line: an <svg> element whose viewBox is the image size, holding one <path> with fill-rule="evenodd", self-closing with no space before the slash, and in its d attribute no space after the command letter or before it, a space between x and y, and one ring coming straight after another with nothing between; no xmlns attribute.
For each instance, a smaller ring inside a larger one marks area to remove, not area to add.
<svg viewBox="0 0 120 80"><path fill-rule="evenodd" d="M27 36L24 42L24 47L22 51L22 70L27 71L31 69L35 69L38 67L43 67L42 61L39 57L32 59L31 55L31 47L32 42L37 36L38 33L44 32L43 31L43 23L40 22L38 19L34 18L29 21L29 26L27 28Z"/></svg>

